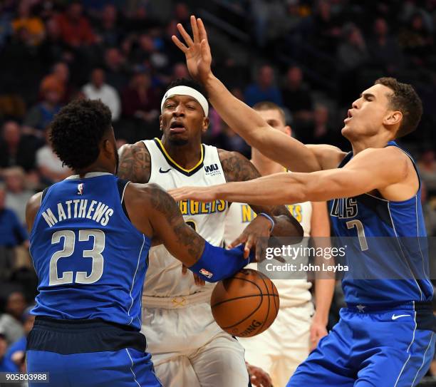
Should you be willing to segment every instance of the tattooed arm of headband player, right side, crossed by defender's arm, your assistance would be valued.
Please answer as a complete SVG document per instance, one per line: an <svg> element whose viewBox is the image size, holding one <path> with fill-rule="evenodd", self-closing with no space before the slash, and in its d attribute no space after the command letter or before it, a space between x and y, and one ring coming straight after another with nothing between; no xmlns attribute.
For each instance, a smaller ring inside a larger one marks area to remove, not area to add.
<svg viewBox="0 0 436 387"><path fill-rule="evenodd" d="M219 150L219 159L221 161L222 169L227 182L243 182L246 180L253 180L257 177L261 177L256 167L247 158L237 152L227 152L225 150ZM284 206L258 206L250 205L251 209L259 214L260 212L266 212L273 215L276 221L276 227L274 227L274 235L289 234L290 227L294 229L297 234L301 233L301 226L299 222L292 217L289 210ZM294 233L293 232L293 233Z"/></svg>

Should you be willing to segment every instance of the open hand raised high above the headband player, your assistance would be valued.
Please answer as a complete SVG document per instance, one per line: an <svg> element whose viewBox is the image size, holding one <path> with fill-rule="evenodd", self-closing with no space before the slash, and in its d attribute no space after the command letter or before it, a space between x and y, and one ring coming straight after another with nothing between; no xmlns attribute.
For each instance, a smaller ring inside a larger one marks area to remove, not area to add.
<svg viewBox="0 0 436 387"><path fill-rule="evenodd" d="M171 38L175 45L185 53L186 65L192 78L204 83L207 78L212 75L210 69L212 54L210 53L207 33L206 29L204 29L202 19L195 19L195 16L191 16L191 26L194 40L192 40L190 34L187 33L182 24L177 24L177 29L182 35L185 44L175 35Z"/></svg>

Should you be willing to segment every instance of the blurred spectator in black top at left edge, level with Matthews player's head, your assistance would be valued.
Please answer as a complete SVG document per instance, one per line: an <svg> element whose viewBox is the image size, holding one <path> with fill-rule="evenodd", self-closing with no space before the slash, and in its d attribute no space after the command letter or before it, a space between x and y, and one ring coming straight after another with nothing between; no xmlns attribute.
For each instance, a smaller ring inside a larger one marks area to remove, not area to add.
<svg viewBox="0 0 436 387"><path fill-rule="evenodd" d="M6 121L0 138L0 167L19 165L28 172L35 167L35 153L35 143L21 135L19 124Z"/></svg>

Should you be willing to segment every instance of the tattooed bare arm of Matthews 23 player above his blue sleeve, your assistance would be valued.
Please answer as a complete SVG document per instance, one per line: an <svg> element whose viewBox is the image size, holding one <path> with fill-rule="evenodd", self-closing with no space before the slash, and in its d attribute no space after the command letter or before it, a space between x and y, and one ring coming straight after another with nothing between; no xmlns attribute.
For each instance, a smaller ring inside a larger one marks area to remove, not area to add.
<svg viewBox="0 0 436 387"><path fill-rule="evenodd" d="M188 252L192 264L194 264L203 252L204 239L200 237L192 227L185 223L177 203L165 190L162 190L159 185L155 184L150 184L149 187L152 207L162 215L162 218L164 218L170 226L171 231L169 237L175 241L173 247L177 250L185 250ZM160 239L164 240L162 235L160 235Z"/></svg>

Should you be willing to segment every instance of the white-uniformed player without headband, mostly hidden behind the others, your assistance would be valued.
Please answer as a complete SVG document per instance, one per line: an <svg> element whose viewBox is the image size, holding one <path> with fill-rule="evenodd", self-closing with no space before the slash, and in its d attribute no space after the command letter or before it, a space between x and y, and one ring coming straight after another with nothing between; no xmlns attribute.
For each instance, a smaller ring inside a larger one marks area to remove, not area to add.
<svg viewBox="0 0 436 387"><path fill-rule="evenodd" d="M291 135L284 111L278 105L261 102L254 105L254 110L272 128ZM261 175L284 171L284 167L266 158L256 148L251 148L251 162ZM303 202L289 205L288 208L303 227L305 237L330 236L326 202ZM237 238L254 217L248 205L232 203L226 218L226 243ZM279 315L268 330L258 336L240 339L240 342L245 348L248 363L268 372L273 386L285 386L309 351L327 334L328 311L335 280L316 279L315 314L309 291L311 282L307 279L273 279L273 282L280 295Z"/></svg>

